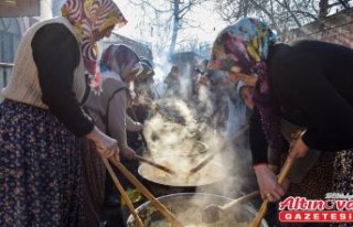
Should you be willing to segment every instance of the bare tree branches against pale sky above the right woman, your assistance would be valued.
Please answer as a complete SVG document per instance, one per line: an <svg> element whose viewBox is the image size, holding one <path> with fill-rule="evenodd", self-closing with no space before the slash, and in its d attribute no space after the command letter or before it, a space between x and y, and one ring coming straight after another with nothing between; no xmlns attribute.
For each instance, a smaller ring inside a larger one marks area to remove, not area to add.
<svg viewBox="0 0 353 227"><path fill-rule="evenodd" d="M282 37L290 29L321 20L331 11L347 9L352 0L220 0L217 12L233 23L244 17L267 21Z"/></svg>

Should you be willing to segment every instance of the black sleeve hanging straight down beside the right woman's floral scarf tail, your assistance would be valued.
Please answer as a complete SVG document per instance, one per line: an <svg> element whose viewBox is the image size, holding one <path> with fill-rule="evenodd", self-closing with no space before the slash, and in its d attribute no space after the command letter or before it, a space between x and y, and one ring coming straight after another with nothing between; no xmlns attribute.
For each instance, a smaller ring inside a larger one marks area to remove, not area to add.
<svg viewBox="0 0 353 227"><path fill-rule="evenodd" d="M249 122L249 142L253 164L268 163L268 143L261 126L261 117L255 107Z"/></svg>

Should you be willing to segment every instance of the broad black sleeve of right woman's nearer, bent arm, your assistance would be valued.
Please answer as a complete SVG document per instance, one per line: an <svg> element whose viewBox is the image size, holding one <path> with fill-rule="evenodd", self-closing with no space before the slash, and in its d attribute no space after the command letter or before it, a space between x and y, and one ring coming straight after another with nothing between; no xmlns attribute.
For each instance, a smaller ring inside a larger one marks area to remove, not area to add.
<svg viewBox="0 0 353 227"><path fill-rule="evenodd" d="M325 78L328 67L320 56L303 53L280 64L272 79L278 94L306 118L303 142L311 149L336 151L352 145L353 107Z"/></svg>

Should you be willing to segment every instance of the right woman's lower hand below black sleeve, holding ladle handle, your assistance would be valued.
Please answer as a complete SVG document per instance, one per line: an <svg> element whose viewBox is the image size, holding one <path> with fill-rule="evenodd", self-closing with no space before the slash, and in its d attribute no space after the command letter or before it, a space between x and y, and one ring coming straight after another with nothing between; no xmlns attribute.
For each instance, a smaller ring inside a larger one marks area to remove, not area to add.
<svg viewBox="0 0 353 227"><path fill-rule="evenodd" d="M278 184L276 174L268 167L267 164L254 166L257 183L263 199L277 202L286 194L285 190Z"/></svg>

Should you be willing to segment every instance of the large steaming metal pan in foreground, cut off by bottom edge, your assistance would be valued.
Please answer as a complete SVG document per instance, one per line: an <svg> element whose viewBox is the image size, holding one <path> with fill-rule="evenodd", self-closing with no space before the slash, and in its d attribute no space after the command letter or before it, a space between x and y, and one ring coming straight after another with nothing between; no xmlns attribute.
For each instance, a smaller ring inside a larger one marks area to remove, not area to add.
<svg viewBox="0 0 353 227"><path fill-rule="evenodd" d="M200 224L203 224L201 220L201 212L205 206L210 204L224 205L233 201L228 197L202 193L172 194L159 197L158 199L165 207L168 207L176 216L176 218L180 221L182 221L186 227L201 226ZM223 224L226 224L222 226L237 227L245 226L246 224L247 226L250 226L252 220L256 215L256 210L248 204L242 205L242 215L234 216L233 214L227 214L226 219L220 220L223 221ZM156 210L156 208L150 204L150 202L142 204L136 210L138 215L141 217L146 227L156 227L157 224L160 224L161 220L164 220L164 217L158 210ZM188 214L185 214L185 212ZM239 224L234 225L235 220ZM133 217L131 215L127 220L127 226L136 227ZM204 226L211 227L215 226L215 224L204 224ZM260 226L268 227L265 220L261 221Z"/></svg>

